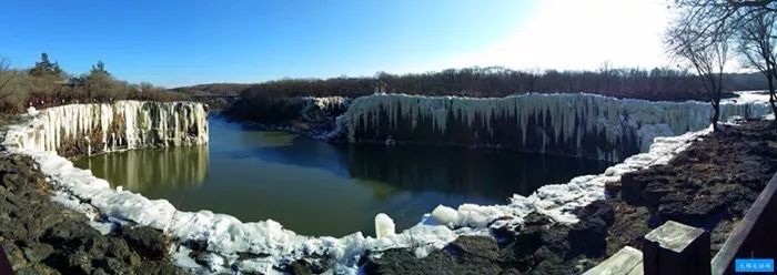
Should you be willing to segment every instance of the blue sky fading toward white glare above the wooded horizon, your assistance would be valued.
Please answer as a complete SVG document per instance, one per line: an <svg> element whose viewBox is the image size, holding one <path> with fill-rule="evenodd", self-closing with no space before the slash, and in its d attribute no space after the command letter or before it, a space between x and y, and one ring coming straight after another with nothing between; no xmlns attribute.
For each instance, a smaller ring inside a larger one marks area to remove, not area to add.
<svg viewBox="0 0 777 275"><path fill-rule="evenodd" d="M547 14L558 10L554 2L578 1L11 0L0 17L10 30L0 55L30 67L47 52L75 73L102 60L119 79L165 86L493 64L567 69L575 62L526 62L564 37L544 30L579 24ZM585 22L602 13L573 8ZM541 50L522 48L529 39Z"/></svg>

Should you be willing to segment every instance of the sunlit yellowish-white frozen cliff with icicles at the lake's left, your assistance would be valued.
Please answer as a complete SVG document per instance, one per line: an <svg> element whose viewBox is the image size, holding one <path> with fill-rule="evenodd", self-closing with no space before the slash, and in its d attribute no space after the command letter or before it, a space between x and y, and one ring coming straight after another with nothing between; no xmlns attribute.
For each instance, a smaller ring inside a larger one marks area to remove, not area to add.
<svg viewBox="0 0 777 275"><path fill-rule="evenodd" d="M194 102L72 104L10 128L4 145L60 155L208 143L208 112Z"/></svg>

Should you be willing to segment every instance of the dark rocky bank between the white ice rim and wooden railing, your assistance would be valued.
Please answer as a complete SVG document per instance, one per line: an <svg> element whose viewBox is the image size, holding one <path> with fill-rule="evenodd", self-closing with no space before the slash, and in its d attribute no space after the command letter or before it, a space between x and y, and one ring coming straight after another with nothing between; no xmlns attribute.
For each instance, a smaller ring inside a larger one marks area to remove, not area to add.
<svg viewBox="0 0 777 275"><path fill-rule="evenodd" d="M370 274L579 274L666 221L712 233L715 254L777 171L777 125L751 121L695 141L667 165L624 175L608 198L563 225L538 213L496 238L460 237L416 258L410 249L370 255Z"/></svg>

